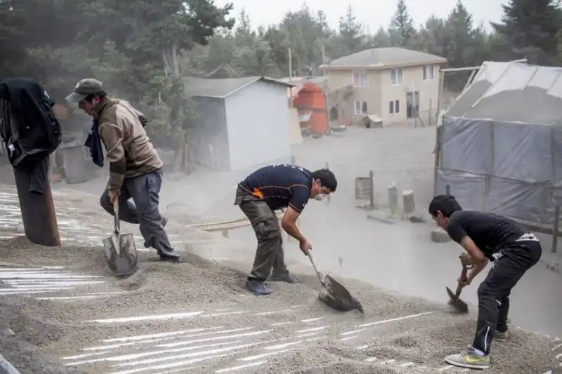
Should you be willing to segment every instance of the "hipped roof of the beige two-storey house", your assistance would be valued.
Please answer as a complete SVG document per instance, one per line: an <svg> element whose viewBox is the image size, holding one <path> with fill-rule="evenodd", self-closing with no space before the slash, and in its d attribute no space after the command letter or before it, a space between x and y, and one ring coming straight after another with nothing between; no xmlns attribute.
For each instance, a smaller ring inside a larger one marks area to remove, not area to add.
<svg viewBox="0 0 562 374"><path fill-rule="evenodd" d="M327 65L328 69L365 67L385 69L397 66L415 66L427 63L444 63L446 58L405 48L372 48L338 58Z"/></svg>

